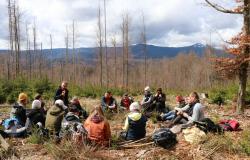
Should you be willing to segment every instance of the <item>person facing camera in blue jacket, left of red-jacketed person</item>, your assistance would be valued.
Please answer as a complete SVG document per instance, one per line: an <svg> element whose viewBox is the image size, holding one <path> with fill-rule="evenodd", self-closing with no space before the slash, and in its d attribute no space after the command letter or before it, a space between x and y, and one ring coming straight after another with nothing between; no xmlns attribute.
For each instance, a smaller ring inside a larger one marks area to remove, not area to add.
<svg viewBox="0 0 250 160"><path fill-rule="evenodd" d="M113 98L112 93L110 91L107 91L104 96L101 99L101 106L103 111L115 111L117 112L118 110L118 105Z"/></svg>

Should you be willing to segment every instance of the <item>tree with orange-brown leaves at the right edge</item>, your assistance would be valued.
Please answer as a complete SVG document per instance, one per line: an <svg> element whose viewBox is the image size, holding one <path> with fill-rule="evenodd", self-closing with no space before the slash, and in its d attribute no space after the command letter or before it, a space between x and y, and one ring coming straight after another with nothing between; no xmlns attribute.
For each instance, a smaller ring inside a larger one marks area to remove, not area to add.
<svg viewBox="0 0 250 160"><path fill-rule="evenodd" d="M243 15L242 32L231 40L231 44L235 47L227 49L230 57L214 58L216 69L224 75L238 75L239 91L237 100L237 113L244 112L247 69L249 65L250 51L250 0L235 0L238 6L234 9L226 9L218 4L214 4L209 0L205 0L207 4L219 12L229 14Z"/></svg>

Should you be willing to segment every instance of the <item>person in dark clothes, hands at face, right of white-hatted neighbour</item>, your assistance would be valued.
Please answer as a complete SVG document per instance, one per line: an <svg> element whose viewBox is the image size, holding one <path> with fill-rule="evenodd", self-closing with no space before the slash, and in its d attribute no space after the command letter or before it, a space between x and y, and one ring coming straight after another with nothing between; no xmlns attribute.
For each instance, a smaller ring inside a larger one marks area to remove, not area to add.
<svg viewBox="0 0 250 160"><path fill-rule="evenodd" d="M162 93L162 89L158 88L157 93L153 97L153 105L156 108L158 113L165 113L165 101L166 101L166 94Z"/></svg>

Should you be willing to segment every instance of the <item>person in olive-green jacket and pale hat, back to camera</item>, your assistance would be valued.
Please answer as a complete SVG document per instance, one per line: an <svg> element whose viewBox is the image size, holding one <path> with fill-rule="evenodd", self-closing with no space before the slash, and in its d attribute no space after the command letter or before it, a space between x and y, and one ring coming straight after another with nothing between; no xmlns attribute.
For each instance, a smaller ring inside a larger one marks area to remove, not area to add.
<svg viewBox="0 0 250 160"><path fill-rule="evenodd" d="M61 122L66 109L67 106L64 105L62 100L58 99L55 101L55 104L47 111L45 128L49 130L51 135L59 136Z"/></svg>

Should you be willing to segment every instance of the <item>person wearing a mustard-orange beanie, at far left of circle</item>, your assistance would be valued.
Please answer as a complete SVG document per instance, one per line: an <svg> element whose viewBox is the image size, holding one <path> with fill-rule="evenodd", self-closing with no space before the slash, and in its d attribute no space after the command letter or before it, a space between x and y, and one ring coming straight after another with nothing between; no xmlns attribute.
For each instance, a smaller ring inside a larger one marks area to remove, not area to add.
<svg viewBox="0 0 250 160"><path fill-rule="evenodd" d="M18 102L12 106L10 112L10 118L16 118L21 126L25 126L26 123L26 105L28 104L28 96L26 93L20 93L18 96Z"/></svg>

